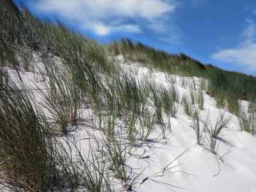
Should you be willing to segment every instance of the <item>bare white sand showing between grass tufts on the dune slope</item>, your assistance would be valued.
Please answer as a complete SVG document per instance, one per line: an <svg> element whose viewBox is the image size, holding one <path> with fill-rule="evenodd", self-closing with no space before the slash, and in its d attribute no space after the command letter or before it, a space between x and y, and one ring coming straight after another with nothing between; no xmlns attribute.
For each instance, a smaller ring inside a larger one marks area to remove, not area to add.
<svg viewBox="0 0 256 192"><path fill-rule="evenodd" d="M122 57L118 59L125 70L134 71L136 79L147 77L159 84L172 86L172 83L166 80L168 76L163 72L156 70L150 72L147 67L140 67L135 63L128 65L124 63ZM13 73L15 70L9 69L10 76L13 76ZM43 79L39 77L38 83L35 83L32 72L21 70L20 76L22 81L31 88L44 88ZM199 88L200 79L197 77L185 77L188 84L183 87L183 77L173 76L173 78L177 81L175 86L179 90L180 97L184 93L189 93L193 79L195 88ZM34 93L35 97L40 99L40 94L36 91ZM204 110L201 111L201 116L204 119L204 116L209 113L211 123L215 124L220 109L216 108L214 98L205 92L204 99ZM247 102L244 101L243 105L246 106ZM129 182L143 171L132 188L133 191L256 191L256 140L251 134L239 131L236 116L227 111L226 115L231 115L232 120L228 127L221 131L220 137L228 143L218 141L220 142L218 152L212 154L209 151L207 140L204 140L204 145L196 145L196 134L190 127L191 118L184 113L182 108L179 109L178 114L177 118L170 118L172 131L166 130L166 138L163 139L163 135L159 137L162 132L159 125L155 125L148 140L138 142L138 145L131 149L131 156L127 154ZM86 120L84 125L79 125L75 131L70 131L68 138L75 141L76 145L80 145L86 155L88 142L80 139L88 137L88 133L99 136L99 138L102 136L99 131L86 127L86 124L90 124L90 120L93 121L92 110L86 109L83 112L83 118ZM166 115L164 115L164 122L168 122ZM122 121L118 123L122 125ZM229 151L231 152L225 155ZM180 156L183 152L185 153ZM76 152L73 151L73 153ZM76 154L72 156L76 158ZM180 157L176 159L178 156ZM171 162L173 163L170 164ZM164 173L161 172L166 166L175 167ZM156 173L158 177L150 177ZM148 179L140 185L147 177ZM116 184L115 189L124 191L122 184Z"/></svg>

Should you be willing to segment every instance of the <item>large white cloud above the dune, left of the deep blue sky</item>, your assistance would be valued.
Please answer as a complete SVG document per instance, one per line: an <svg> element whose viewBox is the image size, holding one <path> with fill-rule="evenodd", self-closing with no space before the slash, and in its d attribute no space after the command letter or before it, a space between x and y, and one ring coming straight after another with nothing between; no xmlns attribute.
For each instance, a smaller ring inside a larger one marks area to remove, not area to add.
<svg viewBox="0 0 256 192"><path fill-rule="evenodd" d="M34 7L43 12L60 14L76 21L84 28L93 29L97 35L113 31L141 33L136 22L154 24L175 10L172 1L164 0L44 0L34 1Z"/></svg>

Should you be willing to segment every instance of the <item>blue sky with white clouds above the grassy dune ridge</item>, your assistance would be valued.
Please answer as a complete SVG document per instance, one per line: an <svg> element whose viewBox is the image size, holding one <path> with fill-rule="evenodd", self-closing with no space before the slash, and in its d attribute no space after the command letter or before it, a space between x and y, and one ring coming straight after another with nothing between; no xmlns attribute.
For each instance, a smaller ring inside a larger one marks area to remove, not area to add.
<svg viewBox="0 0 256 192"><path fill-rule="evenodd" d="M16 1L19 3L20 1ZM255 0L21 0L100 42L131 38L256 76Z"/></svg>

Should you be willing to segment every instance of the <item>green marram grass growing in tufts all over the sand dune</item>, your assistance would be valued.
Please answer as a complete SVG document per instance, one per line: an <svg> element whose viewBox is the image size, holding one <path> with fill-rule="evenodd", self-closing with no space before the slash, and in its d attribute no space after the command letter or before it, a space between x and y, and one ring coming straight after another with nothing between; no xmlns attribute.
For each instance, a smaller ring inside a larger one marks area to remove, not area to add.
<svg viewBox="0 0 256 192"><path fill-rule="evenodd" d="M216 154L230 116L220 112L215 125L208 117L203 121L202 91L215 97L219 108L227 107L238 116L241 131L255 134L254 77L205 65L182 52L157 50L130 38L102 44L61 22L38 19L13 1L0 0L0 6L0 168L3 179L12 181L17 189L76 191L80 185L88 191L111 191L113 178L131 189L134 180L129 184L125 157L138 143L150 140L157 125L164 127L166 116L171 127L170 118L177 117L180 106L191 120L197 143L209 145ZM170 86L146 77L136 79L118 65L116 56L120 54L125 60L151 68L150 72L165 72L170 76ZM19 68L33 72L35 83L38 76L44 79L45 89L37 92L43 98L40 102L28 87L13 83L8 77L10 68L20 84ZM182 99L173 75L182 76L180 85L184 89L193 89ZM200 91L195 90L194 79L189 84L188 77L200 77ZM251 115L241 110L240 100L249 101ZM86 109L95 117L91 122L80 116ZM76 146L76 164L58 136L72 148L70 127L84 119L105 140L90 135L92 143L98 145L97 152L90 146L91 156ZM118 122L124 127L116 131ZM106 152L100 150L103 147ZM113 176L108 176L110 173Z"/></svg>

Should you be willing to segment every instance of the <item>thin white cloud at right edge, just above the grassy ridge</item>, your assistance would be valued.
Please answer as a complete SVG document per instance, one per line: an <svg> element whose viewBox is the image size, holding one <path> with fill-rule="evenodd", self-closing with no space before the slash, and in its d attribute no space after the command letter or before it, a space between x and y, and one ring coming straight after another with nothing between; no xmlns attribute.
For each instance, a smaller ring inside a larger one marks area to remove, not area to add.
<svg viewBox="0 0 256 192"><path fill-rule="evenodd" d="M248 27L241 34L244 36L243 42L236 48L222 49L212 54L211 58L244 67L244 72L256 72L256 27L253 20L246 19L246 22Z"/></svg>

